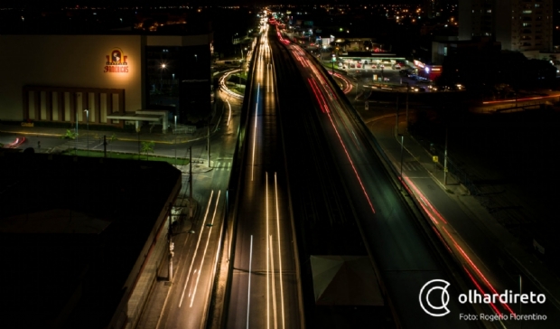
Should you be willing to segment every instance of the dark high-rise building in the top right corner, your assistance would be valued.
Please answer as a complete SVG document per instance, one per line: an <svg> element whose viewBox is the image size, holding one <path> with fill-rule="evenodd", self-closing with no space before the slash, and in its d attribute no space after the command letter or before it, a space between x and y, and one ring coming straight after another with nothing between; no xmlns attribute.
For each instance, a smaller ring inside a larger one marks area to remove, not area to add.
<svg viewBox="0 0 560 329"><path fill-rule="evenodd" d="M503 50L553 48L553 0L459 0L459 40L490 37Z"/></svg>

